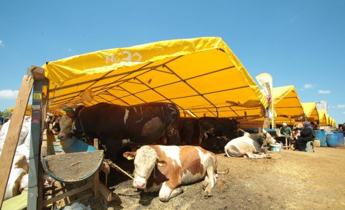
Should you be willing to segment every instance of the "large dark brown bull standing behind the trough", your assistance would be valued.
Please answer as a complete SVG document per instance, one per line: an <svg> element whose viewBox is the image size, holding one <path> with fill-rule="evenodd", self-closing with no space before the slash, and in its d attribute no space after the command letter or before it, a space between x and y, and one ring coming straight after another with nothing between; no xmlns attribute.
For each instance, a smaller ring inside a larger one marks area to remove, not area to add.
<svg viewBox="0 0 345 210"><path fill-rule="evenodd" d="M179 111L171 103L146 103L120 106L99 103L90 107L75 107L60 121L59 139L71 133L84 133L89 139L98 138L106 157L113 157L126 144L151 144L161 139L165 145L179 143ZM69 118L69 119L68 119Z"/></svg>

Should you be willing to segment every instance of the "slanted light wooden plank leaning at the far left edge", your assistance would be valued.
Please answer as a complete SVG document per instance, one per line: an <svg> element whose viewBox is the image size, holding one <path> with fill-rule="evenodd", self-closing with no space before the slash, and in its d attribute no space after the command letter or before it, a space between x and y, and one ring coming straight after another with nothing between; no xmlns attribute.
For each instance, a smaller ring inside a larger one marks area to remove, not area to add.
<svg viewBox="0 0 345 210"><path fill-rule="evenodd" d="M21 134L23 119L26 106L30 98L33 82L34 79L32 76L25 75L23 77L22 86L19 90L15 109L8 128L8 133L2 148L2 153L0 156L0 209L6 191L8 177L11 172L13 157L16 153L19 135Z"/></svg>

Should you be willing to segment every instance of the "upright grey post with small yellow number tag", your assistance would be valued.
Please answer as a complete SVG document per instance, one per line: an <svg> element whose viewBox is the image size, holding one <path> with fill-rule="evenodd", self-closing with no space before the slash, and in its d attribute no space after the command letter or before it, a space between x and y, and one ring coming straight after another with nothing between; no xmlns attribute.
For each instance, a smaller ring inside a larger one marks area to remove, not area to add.
<svg viewBox="0 0 345 210"><path fill-rule="evenodd" d="M27 188L27 209L37 209L38 165L40 156L43 80L35 79L32 93L31 141L29 154L29 183Z"/></svg>

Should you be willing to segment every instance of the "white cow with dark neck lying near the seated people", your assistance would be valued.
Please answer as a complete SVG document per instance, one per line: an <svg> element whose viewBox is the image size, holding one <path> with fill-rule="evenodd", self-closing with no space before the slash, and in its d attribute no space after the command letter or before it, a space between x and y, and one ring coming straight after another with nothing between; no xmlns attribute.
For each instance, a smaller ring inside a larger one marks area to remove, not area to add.
<svg viewBox="0 0 345 210"><path fill-rule="evenodd" d="M262 134L248 134L235 138L227 143L224 147L228 157L248 157L248 158L264 158L266 154L258 154L264 152L262 145L274 144L276 140L265 130Z"/></svg>

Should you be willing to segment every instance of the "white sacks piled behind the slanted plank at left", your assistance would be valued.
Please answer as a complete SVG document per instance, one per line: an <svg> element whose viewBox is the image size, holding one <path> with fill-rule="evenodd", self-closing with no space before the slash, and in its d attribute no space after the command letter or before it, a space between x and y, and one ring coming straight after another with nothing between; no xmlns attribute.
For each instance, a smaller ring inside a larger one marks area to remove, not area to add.
<svg viewBox="0 0 345 210"><path fill-rule="evenodd" d="M11 120L3 124L0 131L0 154L8 133L8 127ZM31 116L25 116L23 120L21 134L13 159L11 173L8 179L4 200L17 196L22 191L27 191L29 153L31 141Z"/></svg>

